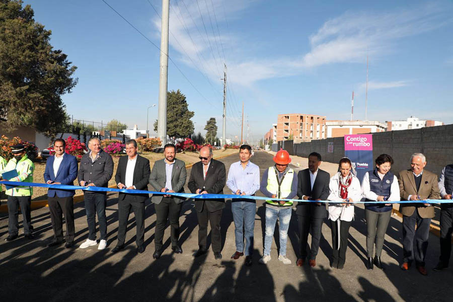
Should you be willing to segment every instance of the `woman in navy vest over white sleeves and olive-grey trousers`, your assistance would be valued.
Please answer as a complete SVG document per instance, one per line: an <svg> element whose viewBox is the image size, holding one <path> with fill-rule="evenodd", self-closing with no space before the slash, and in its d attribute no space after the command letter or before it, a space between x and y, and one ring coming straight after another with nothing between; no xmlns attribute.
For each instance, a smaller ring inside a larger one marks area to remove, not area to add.
<svg viewBox="0 0 453 302"><path fill-rule="evenodd" d="M365 173L362 181L362 195L366 201L379 203L365 203L366 219L366 253L367 269L373 269L373 263L380 269L385 269L381 262L381 252L384 245L384 235L392 215L392 204L386 201L399 201L400 188L397 177L390 172L393 159L390 155L381 154L376 160L376 168ZM374 239L376 239L376 254L373 256Z"/></svg>

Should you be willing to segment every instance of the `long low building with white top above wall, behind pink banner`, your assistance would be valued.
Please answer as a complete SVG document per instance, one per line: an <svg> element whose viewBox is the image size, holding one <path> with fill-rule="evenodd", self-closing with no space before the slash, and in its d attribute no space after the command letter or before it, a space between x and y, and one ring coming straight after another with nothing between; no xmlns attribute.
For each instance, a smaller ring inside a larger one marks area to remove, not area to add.
<svg viewBox="0 0 453 302"><path fill-rule="evenodd" d="M378 121L326 121L327 138L343 137L345 134L362 134L384 132L387 129L385 123Z"/></svg>

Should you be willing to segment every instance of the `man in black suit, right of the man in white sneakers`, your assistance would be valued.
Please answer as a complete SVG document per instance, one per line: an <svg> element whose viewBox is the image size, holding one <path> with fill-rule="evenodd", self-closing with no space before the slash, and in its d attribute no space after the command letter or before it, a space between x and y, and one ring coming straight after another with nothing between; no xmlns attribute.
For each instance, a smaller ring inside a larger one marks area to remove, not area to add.
<svg viewBox="0 0 453 302"><path fill-rule="evenodd" d="M135 139L126 141L126 154L118 161L118 169L115 174L115 182L120 189L147 190L149 178L149 161L137 154L137 142ZM112 253L124 248L126 239L127 220L132 209L137 226L136 239L137 253L143 253L144 235L144 203L148 194L122 193L118 194L118 243Z"/></svg>

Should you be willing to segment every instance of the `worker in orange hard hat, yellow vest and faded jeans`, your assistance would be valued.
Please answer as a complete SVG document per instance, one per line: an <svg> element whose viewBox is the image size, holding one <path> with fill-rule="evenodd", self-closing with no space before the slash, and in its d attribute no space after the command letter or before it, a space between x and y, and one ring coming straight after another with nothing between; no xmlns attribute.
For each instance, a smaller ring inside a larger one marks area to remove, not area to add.
<svg viewBox="0 0 453 302"><path fill-rule="evenodd" d="M288 167L291 162L289 153L280 149L274 156L275 165L263 173L260 191L266 197L292 199L297 194L297 174ZM289 220L291 220L292 201L266 200L266 231L264 236L264 255L259 263L266 264L271 260L270 251L277 218L280 221L280 255L278 260L283 264L291 264L286 257L286 240L288 238Z"/></svg>

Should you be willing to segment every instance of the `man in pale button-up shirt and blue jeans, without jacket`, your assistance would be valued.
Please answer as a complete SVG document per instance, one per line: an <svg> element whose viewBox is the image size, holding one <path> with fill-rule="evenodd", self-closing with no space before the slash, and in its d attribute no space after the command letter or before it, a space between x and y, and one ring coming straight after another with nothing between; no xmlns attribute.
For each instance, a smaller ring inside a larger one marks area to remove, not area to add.
<svg viewBox="0 0 453 302"><path fill-rule="evenodd" d="M260 168L250 162L252 147L244 144L239 147L239 162L230 166L226 186L235 195L255 195L260 188ZM246 256L245 265L252 265L253 231L255 229L256 201L255 199L231 200L231 211L235 222L236 252L231 259ZM244 235L244 231L245 235ZM244 249L244 239L246 246Z"/></svg>

